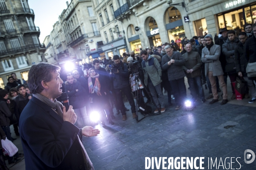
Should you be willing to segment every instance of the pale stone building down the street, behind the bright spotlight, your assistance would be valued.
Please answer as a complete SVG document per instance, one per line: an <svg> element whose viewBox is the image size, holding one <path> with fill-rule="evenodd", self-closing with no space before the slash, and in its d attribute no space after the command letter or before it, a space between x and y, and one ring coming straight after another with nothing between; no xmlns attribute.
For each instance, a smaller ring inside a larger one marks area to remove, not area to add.
<svg viewBox="0 0 256 170"><path fill-rule="evenodd" d="M60 66L71 61L82 64L93 58L105 57L91 0L67 2L67 9L60 14L45 41L48 43L47 58Z"/></svg>

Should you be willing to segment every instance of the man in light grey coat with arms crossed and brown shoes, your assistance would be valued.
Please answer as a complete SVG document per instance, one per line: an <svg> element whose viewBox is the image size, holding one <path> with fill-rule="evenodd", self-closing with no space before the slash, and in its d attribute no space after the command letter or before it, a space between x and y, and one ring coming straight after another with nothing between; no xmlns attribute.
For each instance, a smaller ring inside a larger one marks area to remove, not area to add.
<svg viewBox="0 0 256 170"><path fill-rule="evenodd" d="M206 42L206 47L204 47L202 50L202 62L205 63L205 75L208 75L209 77L213 94L213 99L211 102L209 102L209 104L218 102L218 91L216 88L217 76L223 92L223 100L221 105L224 105L227 103L227 85L224 82L224 73L221 68L221 62L219 61L221 46L213 43L211 34L207 34L204 37L204 40Z"/></svg>

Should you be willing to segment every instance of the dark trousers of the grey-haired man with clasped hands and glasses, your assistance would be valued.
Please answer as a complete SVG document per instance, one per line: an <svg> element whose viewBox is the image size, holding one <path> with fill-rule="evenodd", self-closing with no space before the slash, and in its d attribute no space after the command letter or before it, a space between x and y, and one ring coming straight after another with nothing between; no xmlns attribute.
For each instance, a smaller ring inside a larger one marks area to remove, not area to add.
<svg viewBox="0 0 256 170"><path fill-rule="evenodd" d="M176 105L182 105L186 98L186 86L184 77L177 80L171 80L170 84L172 86L172 93L175 97Z"/></svg>

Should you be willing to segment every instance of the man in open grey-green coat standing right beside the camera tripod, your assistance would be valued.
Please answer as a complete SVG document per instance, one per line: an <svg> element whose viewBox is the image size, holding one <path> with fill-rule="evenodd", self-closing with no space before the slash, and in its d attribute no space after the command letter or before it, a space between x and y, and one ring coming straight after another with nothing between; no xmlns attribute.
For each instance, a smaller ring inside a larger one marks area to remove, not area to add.
<svg viewBox="0 0 256 170"><path fill-rule="evenodd" d="M154 113L157 113L159 109L161 109L161 113L163 113L165 111L165 107L163 92L161 90L161 66L158 60L154 57L151 57L145 50L140 52L140 57L143 59L142 67L144 72L144 83L145 85L148 85L149 91L157 106L157 109L154 111Z"/></svg>

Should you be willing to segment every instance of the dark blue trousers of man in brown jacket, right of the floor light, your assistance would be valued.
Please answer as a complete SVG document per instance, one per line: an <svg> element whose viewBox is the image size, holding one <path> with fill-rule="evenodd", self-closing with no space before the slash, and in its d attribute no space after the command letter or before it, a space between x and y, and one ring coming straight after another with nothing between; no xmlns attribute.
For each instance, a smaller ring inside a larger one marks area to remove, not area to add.
<svg viewBox="0 0 256 170"><path fill-rule="evenodd" d="M187 77L188 83L189 83L189 89L191 91L191 94L193 96L193 99L197 98L197 89L198 89L198 95L200 99L204 99L204 89L201 81L201 76L198 77Z"/></svg>

